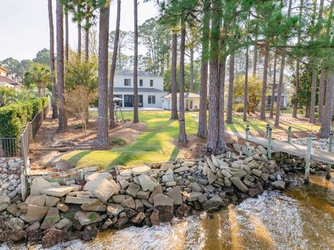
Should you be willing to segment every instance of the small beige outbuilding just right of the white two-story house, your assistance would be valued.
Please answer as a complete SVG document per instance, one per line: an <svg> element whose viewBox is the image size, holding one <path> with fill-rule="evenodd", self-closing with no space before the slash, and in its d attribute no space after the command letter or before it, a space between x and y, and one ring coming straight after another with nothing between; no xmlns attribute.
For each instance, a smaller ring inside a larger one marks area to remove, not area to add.
<svg viewBox="0 0 334 250"><path fill-rule="evenodd" d="M162 98L162 108L172 109L172 94ZM180 94L177 93L177 110L180 108ZM195 93L184 93L184 108L186 111L196 111L200 109L200 95Z"/></svg>

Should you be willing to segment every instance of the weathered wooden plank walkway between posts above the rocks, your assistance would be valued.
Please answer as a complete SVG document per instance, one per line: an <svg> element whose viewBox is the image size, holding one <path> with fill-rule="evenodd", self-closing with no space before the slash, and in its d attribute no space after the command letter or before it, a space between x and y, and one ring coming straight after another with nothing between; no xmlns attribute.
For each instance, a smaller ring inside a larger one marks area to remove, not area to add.
<svg viewBox="0 0 334 250"><path fill-rule="evenodd" d="M234 135L241 139L246 140L246 134L244 133L233 132L230 130L225 130L225 133L231 134L231 135ZM249 135L248 141L258 144L258 145L262 145L265 148L268 148L268 140L265 138L260 138L260 137ZM272 140L271 145L272 145L271 146L272 152L283 152L283 153L288 153L290 155L306 157L306 150L307 150L306 146L290 144L290 143L287 143L287 141L277 141L277 140ZM331 153L325 150L319 150L319 149L312 148L311 160L334 165L334 153Z"/></svg>

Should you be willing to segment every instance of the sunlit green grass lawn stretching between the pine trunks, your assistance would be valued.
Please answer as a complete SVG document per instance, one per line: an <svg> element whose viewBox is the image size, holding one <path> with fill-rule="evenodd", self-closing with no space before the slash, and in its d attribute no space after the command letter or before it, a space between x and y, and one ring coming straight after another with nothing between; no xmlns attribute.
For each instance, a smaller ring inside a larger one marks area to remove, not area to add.
<svg viewBox="0 0 334 250"><path fill-rule="evenodd" d="M132 119L133 112L123 112L126 119ZM97 116L96 112L92 112ZM186 133L196 134L198 123L196 122L198 112L186 114ZM169 111L140 111L139 119L147 124L147 131L138 136L136 141L111 150L86 150L72 151L63 156L64 160L70 161L78 168L87 166L100 166L106 168L114 165L134 166L145 162L166 162L175 159L179 153L179 148L171 143L171 140L179 136L179 123L170 120ZM246 125L250 125L252 130L265 131L267 122L250 119L247 123L242 121L242 115L234 115L234 123L226 125L226 129L244 132ZM290 123L281 123L281 128L275 128L275 131L286 131L287 127L292 126L292 131L311 130L312 125L299 125ZM313 130L319 130L319 125L312 127Z"/></svg>

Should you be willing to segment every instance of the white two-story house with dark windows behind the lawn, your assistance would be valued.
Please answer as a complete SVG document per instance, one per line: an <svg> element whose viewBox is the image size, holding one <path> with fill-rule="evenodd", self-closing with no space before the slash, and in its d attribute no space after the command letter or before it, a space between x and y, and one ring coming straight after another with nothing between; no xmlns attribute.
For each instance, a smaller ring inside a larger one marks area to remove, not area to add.
<svg viewBox="0 0 334 250"><path fill-rule="evenodd" d="M161 109L164 95L164 77L145 71L138 71L138 107ZM120 107L134 107L134 71L116 70L114 77L113 97Z"/></svg>

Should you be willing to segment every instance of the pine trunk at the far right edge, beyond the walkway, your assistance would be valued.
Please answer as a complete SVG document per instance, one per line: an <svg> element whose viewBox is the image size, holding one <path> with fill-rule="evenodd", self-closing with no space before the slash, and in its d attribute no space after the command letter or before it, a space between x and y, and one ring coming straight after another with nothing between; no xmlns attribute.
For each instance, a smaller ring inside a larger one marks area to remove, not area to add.
<svg viewBox="0 0 334 250"><path fill-rule="evenodd" d="M321 121L319 136L328 138L331 133L331 124L333 116L333 97L334 97L334 74L328 72L324 116Z"/></svg>

